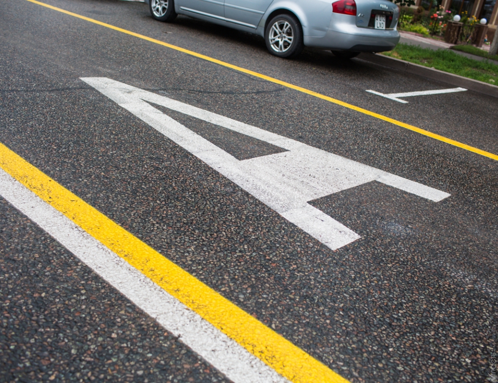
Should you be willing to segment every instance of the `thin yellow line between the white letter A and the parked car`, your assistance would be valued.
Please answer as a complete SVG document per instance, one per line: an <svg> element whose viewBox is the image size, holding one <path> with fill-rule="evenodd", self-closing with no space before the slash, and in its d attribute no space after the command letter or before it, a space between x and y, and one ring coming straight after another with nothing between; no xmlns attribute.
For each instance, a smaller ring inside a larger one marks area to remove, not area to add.
<svg viewBox="0 0 498 383"><path fill-rule="evenodd" d="M282 85L282 86L284 86L286 88L294 89L294 90L297 90L299 92L309 94L310 96L318 97L318 98L320 98L322 100L329 101L329 102L337 104L337 105L341 105L341 106L343 106L345 108L352 109L352 110L355 110L357 112L366 114L368 116L372 116L372 117L378 118L379 120L383 120L383 121L389 122L389 123L397 125L397 126L399 126L401 128L405 128L405 129L411 130L413 132L417 132L417 133L419 133L421 135L433 138L433 139L438 140L438 141L445 142L447 144L456 146L458 148L468 150L469 152L477 153L477 154L480 154L481 156L488 157L488 158L491 158L493 160L498 161L498 156L496 154L493 154L493 153L490 153L490 152L486 152L486 151L478 149L478 148L474 148L474 147L472 147L470 145L462 144L461 142L458 142L458 141L455 141L455 140L452 140L452 139L440 136L439 134L435 134L435 133L429 132L427 130L417 128L416 126L413 126L413 125L405 124L404 122L394 120L393 118L389 118L389 117L383 116L381 114L371 112L371 111L369 111L367 109L363 109L363 108L360 108L358 106L355 106L355 105L352 105L352 104L348 104L347 102L344 102L344 101L341 101L341 100L337 100L337 99L329 97L329 96L325 96L323 94L314 92L312 90L309 90L309 89L306 89L306 88L302 88L300 86L293 85L293 84L290 84L288 82L281 81L281 80L278 80L278 79L273 78L273 77L266 76L266 75L261 74L261 73L253 72L252 70L245 69L245 68L242 68L240 66L232 65L232 64L229 64L228 62L217 60L216 58L205 56L203 54L196 53L196 52L193 52L193 51L188 50L188 49L180 48L179 46L171 45L171 44L168 44L167 42L156 40L154 38L150 38L150 37L144 36L144 35L139 34L139 33L131 32L129 30L126 30L126 29L123 29L123 28L119 28L117 26L114 26L114 25L111 25L111 24L107 24L105 22L102 22L102 21L99 21L99 20L95 20L93 18L85 17L85 16L82 16L82 15L77 14L77 13L70 12L70 11L65 10L65 9L57 8L57 7L53 6L53 5L45 4L43 2L36 1L36 0L27 0L27 1L33 2L33 3L38 4L38 5L45 6L47 8L53 9L53 10L57 10L59 12L65 13L65 14L69 14L69 15L74 16L74 17L81 18L82 20L90 21L90 22L93 22L95 24L105 26L106 28L114 29L114 30L117 30L119 32L129 34L131 36L135 36L135 37L141 38L143 40L153 42L155 44L166 46L168 48L177 50L179 52L183 52L183 53L189 54L191 56L198 57L198 58L201 58L203 60L210 61L210 62L213 62L215 64L219 64L219 65L225 66L227 68L231 68L231 69L237 70L239 72L243 72L243 73L249 74L251 76L258 77L258 78L264 79L266 81Z"/></svg>

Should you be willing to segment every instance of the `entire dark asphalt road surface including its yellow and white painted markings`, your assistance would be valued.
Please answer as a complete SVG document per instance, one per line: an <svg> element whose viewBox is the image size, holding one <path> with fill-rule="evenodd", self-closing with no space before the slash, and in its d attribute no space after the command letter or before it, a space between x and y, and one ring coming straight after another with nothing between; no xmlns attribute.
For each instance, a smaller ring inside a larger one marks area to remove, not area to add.
<svg viewBox="0 0 498 383"><path fill-rule="evenodd" d="M400 103L366 91L452 86L141 2L43 4L0 4L1 382L493 381L496 98Z"/></svg>

